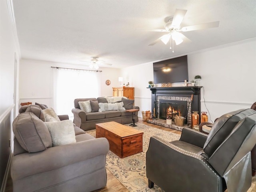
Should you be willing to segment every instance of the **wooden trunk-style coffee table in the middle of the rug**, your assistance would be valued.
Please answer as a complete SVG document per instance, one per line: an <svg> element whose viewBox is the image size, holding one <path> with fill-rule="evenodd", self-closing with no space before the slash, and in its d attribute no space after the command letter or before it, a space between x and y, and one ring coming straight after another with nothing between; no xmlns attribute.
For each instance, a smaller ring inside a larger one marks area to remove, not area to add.
<svg viewBox="0 0 256 192"><path fill-rule="evenodd" d="M96 138L106 137L110 150L120 158L142 152L142 131L114 121L96 124Z"/></svg>

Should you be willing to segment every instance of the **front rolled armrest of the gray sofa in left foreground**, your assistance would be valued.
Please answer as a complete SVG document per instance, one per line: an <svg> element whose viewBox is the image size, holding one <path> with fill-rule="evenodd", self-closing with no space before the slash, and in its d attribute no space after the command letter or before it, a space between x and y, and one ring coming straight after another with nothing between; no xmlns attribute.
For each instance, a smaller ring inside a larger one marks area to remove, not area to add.
<svg viewBox="0 0 256 192"><path fill-rule="evenodd" d="M58 169L70 164L105 156L109 151L106 138L89 139L78 143L47 148L41 152L23 153L12 158L12 179ZM102 165L102 167L104 167Z"/></svg>

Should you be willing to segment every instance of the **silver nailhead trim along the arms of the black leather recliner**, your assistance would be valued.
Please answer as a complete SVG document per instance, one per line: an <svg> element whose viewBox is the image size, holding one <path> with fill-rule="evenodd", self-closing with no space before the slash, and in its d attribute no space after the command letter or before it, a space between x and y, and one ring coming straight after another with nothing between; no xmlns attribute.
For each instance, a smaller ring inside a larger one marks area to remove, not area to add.
<svg viewBox="0 0 256 192"><path fill-rule="evenodd" d="M186 129L186 128L183 128L183 129ZM194 130L191 130L191 131L194 131ZM196 131L196 133L198 133L198 131ZM204 133L202 133L203 135L206 135L206 134L204 134ZM207 135L206 135L207 136ZM197 159L199 159L199 160L201 160L202 162L204 162L204 164L217 176L217 177L219 177L218 176L218 174L216 174L216 172L214 172L214 170L207 164L207 159L204 157L204 156L202 156L202 155L200 155L200 154L196 154L196 153L193 153L193 152L189 152L189 151L186 151L186 150L184 150L184 149L182 149L182 148L180 148L180 147L178 147L178 146L175 146L174 144L171 144L171 143L168 143L168 141L165 141L165 140L163 140L163 139L161 139L161 138L159 138L159 137L156 137L156 136L153 136L153 138L154 139L156 139L157 141L159 141L160 143L162 143L162 144L165 144L166 146L168 146L168 147L170 147L170 148L172 148L173 150L176 150L176 151L178 151L178 152L180 152L180 153L182 153L182 154L185 154L185 155L188 155L188 156L192 156L192 157L194 157L194 158L197 158ZM164 143L164 142L165 143ZM173 147L174 146L174 147ZM184 151L184 152L183 152ZM189 154L190 153L190 154ZM193 154L193 155L192 155ZM198 157L199 156L199 157ZM206 162L203 160L206 160Z"/></svg>

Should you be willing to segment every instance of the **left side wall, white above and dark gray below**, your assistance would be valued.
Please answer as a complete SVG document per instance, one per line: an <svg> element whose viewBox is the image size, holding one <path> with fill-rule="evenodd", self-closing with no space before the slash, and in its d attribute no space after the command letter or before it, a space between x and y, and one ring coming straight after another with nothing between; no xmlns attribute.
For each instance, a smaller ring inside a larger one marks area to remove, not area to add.
<svg viewBox="0 0 256 192"><path fill-rule="evenodd" d="M15 114L14 82L19 65L19 46L10 17L10 1L0 0L0 188L4 191L13 147ZM14 60L17 60L15 67ZM18 85L17 85L18 87ZM9 146L9 139L11 146ZM9 164L8 164L9 162Z"/></svg>

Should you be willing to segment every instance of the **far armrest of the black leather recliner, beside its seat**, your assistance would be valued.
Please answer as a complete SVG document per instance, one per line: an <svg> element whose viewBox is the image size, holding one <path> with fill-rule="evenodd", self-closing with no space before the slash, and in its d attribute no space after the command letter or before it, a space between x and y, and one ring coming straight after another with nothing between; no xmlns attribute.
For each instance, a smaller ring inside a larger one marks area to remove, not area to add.
<svg viewBox="0 0 256 192"><path fill-rule="evenodd" d="M204 143L206 142L208 135L195 131L189 128L183 128L180 141L196 145L200 148L204 148Z"/></svg>

